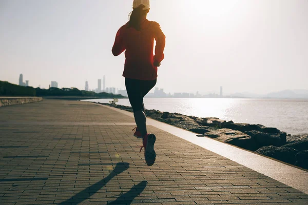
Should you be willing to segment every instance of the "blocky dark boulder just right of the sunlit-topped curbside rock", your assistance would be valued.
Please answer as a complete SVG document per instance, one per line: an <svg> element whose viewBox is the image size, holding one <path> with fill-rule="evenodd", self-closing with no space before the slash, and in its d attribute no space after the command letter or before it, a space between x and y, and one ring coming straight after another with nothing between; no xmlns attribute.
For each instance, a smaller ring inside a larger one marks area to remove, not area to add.
<svg viewBox="0 0 308 205"><path fill-rule="evenodd" d="M253 130L245 132L245 134L253 137L253 139L255 139L259 147L269 146L269 145L280 147L286 143L285 140L286 133L275 135Z"/></svg>

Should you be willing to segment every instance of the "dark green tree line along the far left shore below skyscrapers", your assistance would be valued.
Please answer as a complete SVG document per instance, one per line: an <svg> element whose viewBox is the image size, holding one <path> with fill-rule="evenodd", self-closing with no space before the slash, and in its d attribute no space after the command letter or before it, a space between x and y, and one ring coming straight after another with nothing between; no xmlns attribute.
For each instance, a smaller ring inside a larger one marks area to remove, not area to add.
<svg viewBox="0 0 308 205"><path fill-rule="evenodd" d="M79 90L77 88L32 88L17 86L7 81L0 81L0 96L36 96L36 97L93 97L93 98L125 98L122 95L112 93L95 93L91 91Z"/></svg>

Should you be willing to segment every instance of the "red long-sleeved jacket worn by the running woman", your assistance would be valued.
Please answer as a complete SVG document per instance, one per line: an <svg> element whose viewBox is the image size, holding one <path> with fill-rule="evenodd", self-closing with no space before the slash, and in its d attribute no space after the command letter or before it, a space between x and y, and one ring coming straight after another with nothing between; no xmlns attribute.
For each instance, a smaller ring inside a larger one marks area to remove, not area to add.
<svg viewBox="0 0 308 205"><path fill-rule="evenodd" d="M156 40L155 55L153 55L154 39ZM123 76L139 80L155 80L157 67L154 59L161 62L164 59L165 35L157 22L145 19L138 31L122 26L115 36L112 54L120 55L125 51L125 66Z"/></svg>

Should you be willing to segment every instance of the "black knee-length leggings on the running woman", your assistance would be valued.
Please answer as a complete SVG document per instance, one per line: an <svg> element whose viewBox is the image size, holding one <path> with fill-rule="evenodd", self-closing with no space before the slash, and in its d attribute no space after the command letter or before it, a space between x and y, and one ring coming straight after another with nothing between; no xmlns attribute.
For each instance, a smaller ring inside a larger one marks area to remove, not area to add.
<svg viewBox="0 0 308 205"><path fill-rule="evenodd" d="M144 111L143 97L156 85L155 80L137 80L125 78L129 103L133 112Z"/></svg>

